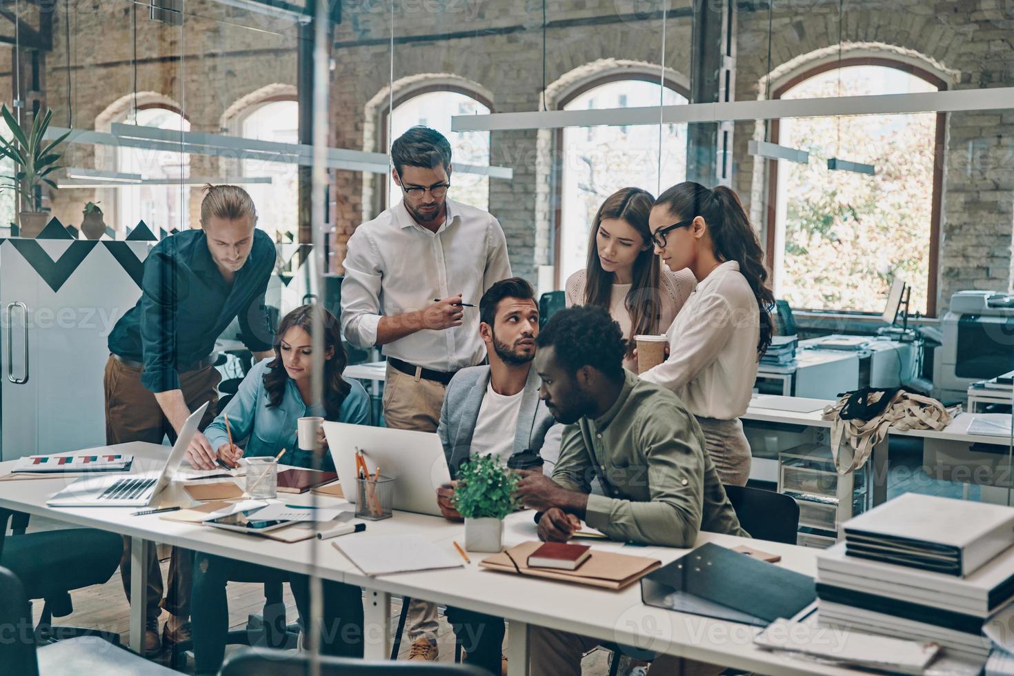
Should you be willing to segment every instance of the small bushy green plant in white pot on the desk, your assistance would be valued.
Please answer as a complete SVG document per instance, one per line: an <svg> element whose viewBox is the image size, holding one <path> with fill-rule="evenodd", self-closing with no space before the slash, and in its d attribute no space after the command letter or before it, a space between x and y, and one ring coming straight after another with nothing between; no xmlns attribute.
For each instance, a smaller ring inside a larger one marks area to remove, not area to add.
<svg viewBox="0 0 1014 676"><path fill-rule="evenodd" d="M464 548L500 551L504 518L517 509L514 489L520 477L492 455L461 463L454 489L454 509L464 518Z"/></svg>

